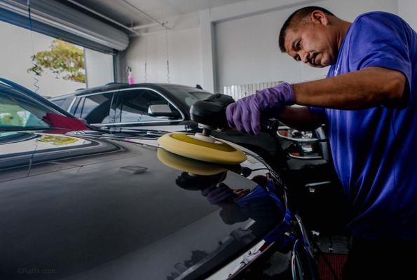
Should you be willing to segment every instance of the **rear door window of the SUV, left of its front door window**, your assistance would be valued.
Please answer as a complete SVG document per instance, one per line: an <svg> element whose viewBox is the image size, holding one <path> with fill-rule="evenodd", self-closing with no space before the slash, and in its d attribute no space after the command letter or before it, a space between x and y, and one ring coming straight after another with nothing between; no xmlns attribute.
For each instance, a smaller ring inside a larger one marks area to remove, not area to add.
<svg viewBox="0 0 417 280"><path fill-rule="evenodd" d="M83 118L89 124L111 123L109 114L112 96L113 93L104 93L81 97L74 115L77 118Z"/></svg>

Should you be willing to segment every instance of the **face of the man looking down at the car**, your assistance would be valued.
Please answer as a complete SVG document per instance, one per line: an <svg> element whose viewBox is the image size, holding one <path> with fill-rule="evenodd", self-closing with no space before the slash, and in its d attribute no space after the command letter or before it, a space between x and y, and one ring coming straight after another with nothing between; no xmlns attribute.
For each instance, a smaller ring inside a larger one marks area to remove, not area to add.
<svg viewBox="0 0 417 280"><path fill-rule="evenodd" d="M296 29L289 27L285 50L297 61L322 68L336 63L336 36L328 26L320 23L313 22Z"/></svg>

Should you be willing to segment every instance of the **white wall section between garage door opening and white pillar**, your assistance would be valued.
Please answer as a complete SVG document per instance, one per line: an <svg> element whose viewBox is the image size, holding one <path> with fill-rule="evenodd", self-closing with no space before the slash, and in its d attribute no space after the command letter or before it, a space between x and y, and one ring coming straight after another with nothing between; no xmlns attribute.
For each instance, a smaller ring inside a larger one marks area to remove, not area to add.
<svg viewBox="0 0 417 280"><path fill-rule="evenodd" d="M147 50L147 59L145 52ZM203 80L200 29L180 29L168 32L170 82L195 86ZM132 38L125 52L125 64L132 67L136 83L168 83L167 43L165 32Z"/></svg>

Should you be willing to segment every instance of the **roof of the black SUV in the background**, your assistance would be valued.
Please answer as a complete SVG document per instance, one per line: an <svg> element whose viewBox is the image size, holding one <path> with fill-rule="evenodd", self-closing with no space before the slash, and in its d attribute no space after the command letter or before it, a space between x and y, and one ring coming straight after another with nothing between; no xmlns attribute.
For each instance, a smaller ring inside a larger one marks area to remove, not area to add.
<svg viewBox="0 0 417 280"><path fill-rule="evenodd" d="M73 95L83 95L83 94L91 94L91 93L97 93L97 92L105 92L109 90L124 90L127 88L136 88L136 87L151 87L151 88L158 88L158 89L165 89L169 90L173 87L183 87L183 88L190 88L190 89L196 89L200 90L198 87L191 87L188 85L177 85L172 83L135 83L135 84L128 84L128 83L107 83L106 85L102 85L100 87L91 87L88 89L80 89L76 90L76 92L71 92L69 94L63 94L57 97L50 98L50 100L57 100L57 99L63 99L65 97L71 97Z"/></svg>

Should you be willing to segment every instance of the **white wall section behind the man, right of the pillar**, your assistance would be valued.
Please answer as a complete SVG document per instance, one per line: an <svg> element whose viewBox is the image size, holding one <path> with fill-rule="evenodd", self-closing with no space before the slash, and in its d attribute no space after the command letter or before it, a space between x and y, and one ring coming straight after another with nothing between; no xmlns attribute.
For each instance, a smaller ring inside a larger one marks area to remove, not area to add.
<svg viewBox="0 0 417 280"><path fill-rule="evenodd" d="M385 10L390 13L397 13L398 10L396 0L333 0L319 1L315 5L328 8L349 21L371 10ZM417 4L413 3L413 5ZM217 92L222 92L224 85L274 80L287 80L295 83L325 77L327 69L313 69L296 63L278 49L279 29L296 8L298 7L275 10L219 22L215 25L216 71L214 72L217 73ZM409 9L408 6L407 9ZM416 9L409 9L410 16L413 13L411 10Z"/></svg>

